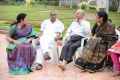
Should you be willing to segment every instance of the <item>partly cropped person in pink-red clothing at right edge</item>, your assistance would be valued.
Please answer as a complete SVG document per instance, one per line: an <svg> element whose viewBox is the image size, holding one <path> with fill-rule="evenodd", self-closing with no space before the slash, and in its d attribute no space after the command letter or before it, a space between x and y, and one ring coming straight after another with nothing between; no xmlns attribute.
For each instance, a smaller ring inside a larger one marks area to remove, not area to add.
<svg viewBox="0 0 120 80"><path fill-rule="evenodd" d="M113 76L120 76L120 31L116 30L119 38L118 41L112 45L112 47L108 50L109 56L112 58L112 61L115 65L116 73Z"/></svg>

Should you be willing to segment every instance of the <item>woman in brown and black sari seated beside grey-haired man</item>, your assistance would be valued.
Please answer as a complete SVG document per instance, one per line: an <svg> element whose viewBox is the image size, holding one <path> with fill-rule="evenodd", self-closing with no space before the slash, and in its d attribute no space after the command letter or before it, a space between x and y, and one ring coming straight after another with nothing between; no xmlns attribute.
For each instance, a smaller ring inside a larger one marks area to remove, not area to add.
<svg viewBox="0 0 120 80"><path fill-rule="evenodd" d="M83 71L96 72L103 69L107 57L107 49L117 41L115 27L108 21L105 11L96 14L95 36L89 39L83 53L76 60L76 66Z"/></svg>

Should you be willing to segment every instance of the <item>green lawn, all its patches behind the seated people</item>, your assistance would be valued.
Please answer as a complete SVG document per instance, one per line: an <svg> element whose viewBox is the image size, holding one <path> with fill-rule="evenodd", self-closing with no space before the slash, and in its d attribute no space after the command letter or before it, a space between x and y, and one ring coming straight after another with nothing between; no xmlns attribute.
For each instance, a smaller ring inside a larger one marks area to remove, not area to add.
<svg viewBox="0 0 120 80"><path fill-rule="evenodd" d="M27 13L30 24L33 26L33 28L37 31L39 31L39 26L41 22L45 19L49 18L49 11L51 9L56 9L58 10L58 18L64 23L65 28L67 29L70 24L72 23L73 20L64 20L65 18L74 18L74 13L76 12L76 9L70 9L70 8L65 8L65 7L57 7L57 6L50 6L48 5L47 7L44 7L44 5L34 5L34 6L25 6L25 5L14 5L14 6L4 6L0 5L0 19L5 19L5 20L10 20L10 22L5 22L2 23L0 22L0 28L4 27L5 29L15 21L16 16L19 13ZM47 12L45 12L47 11ZM92 13L95 14L96 10L94 9L89 9L85 10L87 13ZM117 12L110 12L109 17L112 19L113 24L116 26L120 26L120 13ZM34 21L35 20L35 21ZM37 21L36 21L37 20ZM95 23L94 19L89 20L91 23L91 27ZM9 29L9 28L7 28Z"/></svg>

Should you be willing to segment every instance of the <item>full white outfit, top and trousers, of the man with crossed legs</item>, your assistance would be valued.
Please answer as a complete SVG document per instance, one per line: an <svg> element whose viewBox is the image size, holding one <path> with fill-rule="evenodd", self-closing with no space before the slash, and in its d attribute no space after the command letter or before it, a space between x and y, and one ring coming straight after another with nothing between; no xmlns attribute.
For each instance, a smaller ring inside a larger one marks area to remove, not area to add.
<svg viewBox="0 0 120 80"><path fill-rule="evenodd" d="M54 39L57 32L62 33L64 31L64 25L58 19L54 23L48 19L41 24L41 31L43 31L43 34L40 37L40 49L37 50L36 62L43 64L44 54L50 51L50 47L57 47Z"/></svg>

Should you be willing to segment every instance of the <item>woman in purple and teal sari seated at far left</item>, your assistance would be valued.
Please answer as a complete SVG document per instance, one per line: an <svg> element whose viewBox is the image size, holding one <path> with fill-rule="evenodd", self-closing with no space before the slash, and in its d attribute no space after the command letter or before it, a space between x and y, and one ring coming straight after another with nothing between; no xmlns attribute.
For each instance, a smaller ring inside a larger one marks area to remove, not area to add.
<svg viewBox="0 0 120 80"><path fill-rule="evenodd" d="M21 75L32 72L31 66L36 56L31 44L34 38L37 38L37 33L27 24L27 14L20 13L6 37L9 42L6 49L9 73Z"/></svg>

